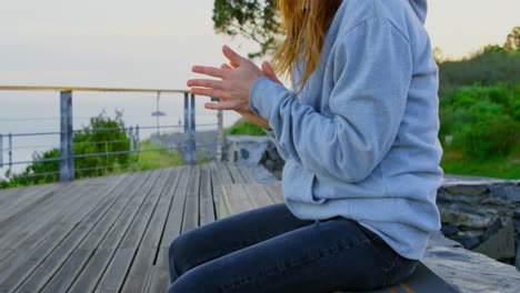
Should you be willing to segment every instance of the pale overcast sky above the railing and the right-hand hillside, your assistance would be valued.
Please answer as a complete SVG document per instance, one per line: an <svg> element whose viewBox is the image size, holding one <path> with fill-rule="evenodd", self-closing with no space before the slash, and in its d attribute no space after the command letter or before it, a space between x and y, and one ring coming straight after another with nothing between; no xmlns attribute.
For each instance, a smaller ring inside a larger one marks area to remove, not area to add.
<svg viewBox="0 0 520 293"><path fill-rule="evenodd" d="M431 0L433 47L460 58L502 44L518 0ZM186 88L193 63L220 64L213 0L0 0L0 84Z"/></svg>

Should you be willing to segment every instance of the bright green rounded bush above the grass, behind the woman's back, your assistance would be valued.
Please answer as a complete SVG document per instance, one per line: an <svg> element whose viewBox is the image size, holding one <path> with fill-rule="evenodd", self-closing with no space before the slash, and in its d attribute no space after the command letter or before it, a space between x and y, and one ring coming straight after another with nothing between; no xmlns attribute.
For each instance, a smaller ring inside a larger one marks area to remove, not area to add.
<svg viewBox="0 0 520 293"><path fill-rule="evenodd" d="M466 87L441 98L440 138L471 159L508 155L519 142L519 92L503 85Z"/></svg>

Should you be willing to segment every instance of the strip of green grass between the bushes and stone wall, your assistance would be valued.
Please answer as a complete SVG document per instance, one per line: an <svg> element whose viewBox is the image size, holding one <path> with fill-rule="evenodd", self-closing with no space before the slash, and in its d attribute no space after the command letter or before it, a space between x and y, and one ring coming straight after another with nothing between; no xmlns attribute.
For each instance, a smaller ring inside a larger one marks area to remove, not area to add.
<svg viewBox="0 0 520 293"><path fill-rule="evenodd" d="M444 146L441 166L447 174L520 179L520 146L516 146L507 156L487 160L468 159L460 150Z"/></svg>

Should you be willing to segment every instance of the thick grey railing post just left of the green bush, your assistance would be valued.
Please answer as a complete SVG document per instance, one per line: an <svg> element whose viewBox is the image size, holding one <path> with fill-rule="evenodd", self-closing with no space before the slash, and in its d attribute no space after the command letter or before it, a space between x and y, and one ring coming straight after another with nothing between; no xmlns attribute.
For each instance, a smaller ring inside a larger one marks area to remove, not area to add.
<svg viewBox="0 0 520 293"><path fill-rule="evenodd" d="M60 182L74 179L74 144L72 132L72 92L60 92Z"/></svg>

